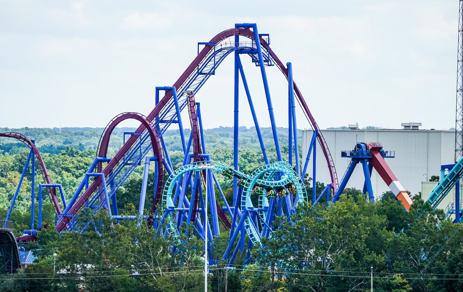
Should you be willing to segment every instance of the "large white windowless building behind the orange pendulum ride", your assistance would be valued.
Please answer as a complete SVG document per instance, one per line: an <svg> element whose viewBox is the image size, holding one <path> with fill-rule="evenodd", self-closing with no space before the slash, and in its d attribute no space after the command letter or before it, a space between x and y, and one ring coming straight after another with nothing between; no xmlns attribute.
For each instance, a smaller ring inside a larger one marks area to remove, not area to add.
<svg viewBox="0 0 463 292"><path fill-rule="evenodd" d="M452 164L455 152L455 131L450 130L422 130L418 129L418 123L402 124L403 129L335 129L321 130L328 145L339 183L347 170L350 158L341 158L341 151L351 150L357 142L379 142L385 151L395 151L395 158L385 158L395 176L402 186L411 192L412 196L421 192L421 183L426 182L431 176L440 176L440 168L443 164ZM302 163L305 163L307 151L312 139L313 131L304 130L302 134ZM317 144L316 181L330 183L325 156ZM310 159L307 173L312 177L312 158ZM363 189L364 176L362 165L357 164L354 173L350 177L347 188L355 187ZM371 176L373 193L376 198L389 190L386 183L373 170ZM435 183L433 183L435 185ZM426 186L426 191L430 186ZM427 199L428 194L422 194ZM451 195L447 196L439 208L445 208L448 200L455 200ZM442 206L445 204L445 206Z"/></svg>

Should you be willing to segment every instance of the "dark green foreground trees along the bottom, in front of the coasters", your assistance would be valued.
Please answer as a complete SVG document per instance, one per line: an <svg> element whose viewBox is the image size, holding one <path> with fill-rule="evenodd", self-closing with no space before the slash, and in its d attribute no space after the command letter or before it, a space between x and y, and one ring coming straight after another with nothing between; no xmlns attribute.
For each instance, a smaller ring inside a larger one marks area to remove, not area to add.
<svg viewBox="0 0 463 292"><path fill-rule="evenodd" d="M104 212L86 220L95 223L86 233L39 232L25 246L36 262L0 277L0 291L202 291L204 243L191 226L174 238L146 222L115 224ZM238 256L230 267L223 260L211 266L208 291L369 291L370 267L375 292L463 291L462 225L419 195L407 213L391 193L371 202L347 189L330 207L300 204L291 221L275 224L252 249L252 264ZM214 258L229 235L224 229L214 238Z"/></svg>

